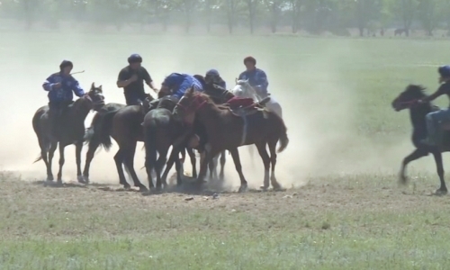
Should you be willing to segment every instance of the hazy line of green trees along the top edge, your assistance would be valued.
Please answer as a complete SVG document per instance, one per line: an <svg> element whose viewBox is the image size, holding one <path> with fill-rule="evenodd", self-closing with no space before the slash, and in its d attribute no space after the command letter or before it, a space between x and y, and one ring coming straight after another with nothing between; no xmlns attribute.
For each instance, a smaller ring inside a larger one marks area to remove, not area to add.
<svg viewBox="0 0 450 270"><path fill-rule="evenodd" d="M58 28L63 21L113 24L160 24L163 30L193 25L211 31L223 24L232 33L247 26L276 32L289 26L293 33L331 31L346 35L357 28L361 36L386 28L410 34L419 25L428 35L436 29L450 32L450 0L0 0L3 18L23 20L31 29L36 22ZM397 32L396 32L397 33Z"/></svg>

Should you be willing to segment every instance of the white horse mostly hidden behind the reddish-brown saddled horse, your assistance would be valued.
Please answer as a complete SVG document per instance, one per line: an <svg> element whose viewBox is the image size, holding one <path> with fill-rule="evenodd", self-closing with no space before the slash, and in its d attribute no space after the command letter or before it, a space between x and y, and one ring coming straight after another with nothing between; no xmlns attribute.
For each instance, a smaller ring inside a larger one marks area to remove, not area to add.
<svg viewBox="0 0 450 270"><path fill-rule="evenodd" d="M255 102L259 102L262 100L261 96L259 96L257 94L257 91L252 87L252 85L250 85L248 83L248 79L247 80L239 80L236 79L236 85L233 87L233 89L231 90L231 92L233 94L235 94L238 97L244 97L244 98L253 98L253 100ZM283 110L282 107L279 103L277 103L272 94L270 94L270 101L266 103L266 107L267 109L275 112L276 114L278 114L278 116L283 117ZM253 147L249 147L248 151L250 153L250 158L253 162L254 160L254 148Z"/></svg>

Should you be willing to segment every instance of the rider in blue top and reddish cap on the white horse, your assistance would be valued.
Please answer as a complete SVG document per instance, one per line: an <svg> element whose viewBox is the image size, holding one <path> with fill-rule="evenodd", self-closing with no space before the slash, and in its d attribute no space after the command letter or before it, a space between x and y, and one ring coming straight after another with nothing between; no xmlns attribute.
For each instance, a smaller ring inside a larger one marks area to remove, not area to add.
<svg viewBox="0 0 450 270"><path fill-rule="evenodd" d="M265 98L268 95L267 86L269 85L266 72L257 68L257 59L253 57L244 58L244 65L247 67L247 70L242 72L238 79L248 80L248 83L255 88L257 94L261 98Z"/></svg>

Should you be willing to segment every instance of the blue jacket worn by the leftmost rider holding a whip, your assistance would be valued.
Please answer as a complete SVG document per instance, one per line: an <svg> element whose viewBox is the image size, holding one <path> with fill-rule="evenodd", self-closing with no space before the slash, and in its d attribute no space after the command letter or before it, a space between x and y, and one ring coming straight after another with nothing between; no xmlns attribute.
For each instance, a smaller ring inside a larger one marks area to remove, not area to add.
<svg viewBox="0 0 450 270"><path fill-rule="evenodd" d="M55 84L60 83L59 88L53 87ZM59 72L50 75L42 85L45 91L49 91L49 102L69 102L73 101L74 94L81 97L85 94L85 91L78 84L78 81L73 76L62 76Z"/></svg>

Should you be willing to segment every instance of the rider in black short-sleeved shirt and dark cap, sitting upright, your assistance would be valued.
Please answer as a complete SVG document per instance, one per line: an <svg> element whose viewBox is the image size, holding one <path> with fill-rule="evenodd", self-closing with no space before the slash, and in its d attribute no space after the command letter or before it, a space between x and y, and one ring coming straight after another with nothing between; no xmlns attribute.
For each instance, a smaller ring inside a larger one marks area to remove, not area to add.
<svg viewBox="0 0 450 270"><path fill-rule="evenodd" d="M141 67L142 58L139 54L132 54L128 58L127 67L123 67L117 79L117 87L123 88L125 100L127 105L139 105L145 100L146 94L144 91L145 83L157 93L157 88L153 85L153 80L148 74L147 69Z"/></svg>

